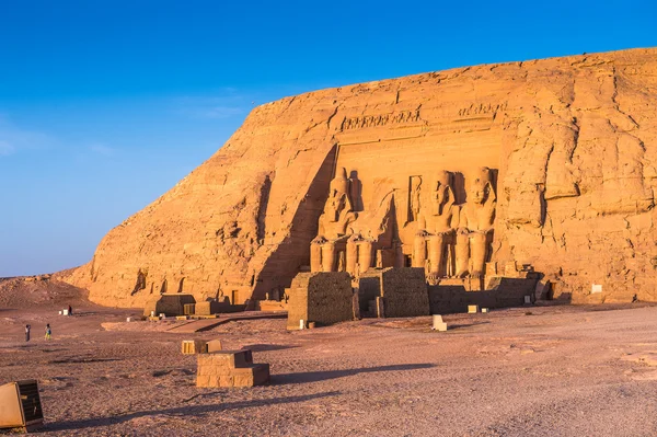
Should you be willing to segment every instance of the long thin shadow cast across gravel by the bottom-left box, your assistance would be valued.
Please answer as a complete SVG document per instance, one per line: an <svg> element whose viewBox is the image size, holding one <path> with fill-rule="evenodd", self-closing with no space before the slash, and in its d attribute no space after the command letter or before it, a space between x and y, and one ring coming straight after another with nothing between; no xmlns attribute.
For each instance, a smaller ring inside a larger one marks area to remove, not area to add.
<svg viewBox="0 0 657 437"><path fill-rule="evenodd" d="M214 394L222 394L220 392L216 393L204 393L204 396L211 396ZM207 413L220 413L227 410L237 410L237 409L251 409L254 406L265 406L273 404L291 404L297 402L306 402L313 399L321 398L330 398L339 394L337 391L325 392L325 393L316 393L316 394L308 394L302 396L288 396L288 398L276 398L276 399L257 399L252 401L243 401L243 402L218 402L215 404L207 405L189 405L189 406L177 406L175 409L164 409L164 410L151 410L151 411L140 411L136 413L116 415L112 417L96 417L96 418L88 418L83 421L71 421L71 422L62 422L58 424L47 424L41 432L56 432L56 430L71 430L71 429L88 429L95 428L99 426L111 426L118 425L124 422L131 421L134 418L152 416L152 415L161 415L161 414L170 414L170 415L185 415L185 416L200 416ZM196 396L195 396L196 398Z"/></svg>

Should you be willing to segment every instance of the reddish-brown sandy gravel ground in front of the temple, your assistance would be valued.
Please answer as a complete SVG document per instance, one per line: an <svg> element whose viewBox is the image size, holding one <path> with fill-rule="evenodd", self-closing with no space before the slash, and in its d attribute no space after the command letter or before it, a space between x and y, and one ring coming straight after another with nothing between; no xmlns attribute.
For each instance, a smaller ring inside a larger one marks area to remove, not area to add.
<svg viewBox="0 0 657 437"><path fill-rule="evenodd" d="M41 381L44 435L657 435L657 367L638 360L657 352L657 307L448 315L447 333L429 318L302 332L285 320L231 322L196 335L253 348L272 383L197 389L196 359L180 353L193 336L77 306L72 318L0 310L0 382Z"/></svg>

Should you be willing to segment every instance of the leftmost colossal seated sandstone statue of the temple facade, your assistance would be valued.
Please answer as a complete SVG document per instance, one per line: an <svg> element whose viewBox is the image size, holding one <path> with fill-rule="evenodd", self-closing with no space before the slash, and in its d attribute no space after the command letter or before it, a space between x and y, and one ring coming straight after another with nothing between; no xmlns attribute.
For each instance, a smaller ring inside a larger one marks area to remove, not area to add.
<svg viewBox="0 0 657 437"><path fill-rule="evenodd" d="M312 272L337 272L338 249L345 244L349 223L357 217L349 194L349 180L346 169L343 168L331 181L328 198L319 220L318 237L310 245Z"/></svg>

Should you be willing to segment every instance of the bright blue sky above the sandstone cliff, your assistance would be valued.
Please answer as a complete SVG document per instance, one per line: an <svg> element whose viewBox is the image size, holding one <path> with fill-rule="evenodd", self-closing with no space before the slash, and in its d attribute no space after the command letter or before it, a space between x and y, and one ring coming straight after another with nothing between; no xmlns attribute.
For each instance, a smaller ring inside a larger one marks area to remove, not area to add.
<svg viewBox="0 0 657 437"><path fill-rule="evenodd" d="M0 0L0 276L89 261L254 104L649 46L655 0Z"/></svg>

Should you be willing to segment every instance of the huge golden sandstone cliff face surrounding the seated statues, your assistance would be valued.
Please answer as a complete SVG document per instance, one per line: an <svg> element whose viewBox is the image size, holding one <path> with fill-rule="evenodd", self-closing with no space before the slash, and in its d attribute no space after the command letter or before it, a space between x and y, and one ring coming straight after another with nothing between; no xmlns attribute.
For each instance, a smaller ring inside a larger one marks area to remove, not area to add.
<svg viewBox="0 0 657 437"><path fill-rule="evenodd" d="M343 168L374 250L397 244L392 256L415 263L413 223L429 187L450 181L454 205L468 205L469 181L487 168L496 205L486 263L532 264L575 302L655 301L656 165L657 49L322 90L255 108L68 280L119 307L164 291L232 303L281 292L310 269L330 184L332 196L333 180L347 187Z"/></svg>

